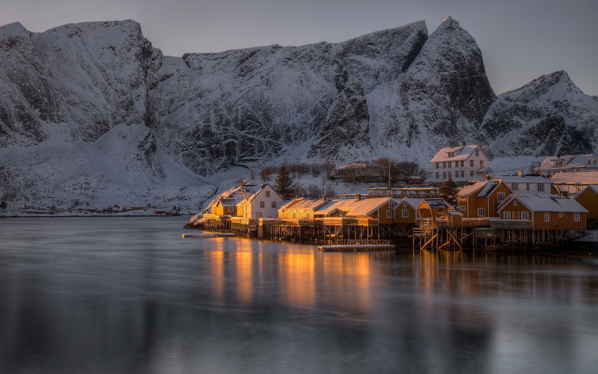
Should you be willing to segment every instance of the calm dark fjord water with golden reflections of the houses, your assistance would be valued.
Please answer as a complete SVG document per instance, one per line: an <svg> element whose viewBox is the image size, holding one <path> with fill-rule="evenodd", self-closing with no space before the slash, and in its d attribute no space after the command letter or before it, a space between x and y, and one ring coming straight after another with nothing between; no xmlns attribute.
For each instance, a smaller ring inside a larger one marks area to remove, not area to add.
<svg viewBox="0 0 598 374"><path fill-rule="evenodd" d="M598 372L598 263L0 220L0 373Z"/></svg>

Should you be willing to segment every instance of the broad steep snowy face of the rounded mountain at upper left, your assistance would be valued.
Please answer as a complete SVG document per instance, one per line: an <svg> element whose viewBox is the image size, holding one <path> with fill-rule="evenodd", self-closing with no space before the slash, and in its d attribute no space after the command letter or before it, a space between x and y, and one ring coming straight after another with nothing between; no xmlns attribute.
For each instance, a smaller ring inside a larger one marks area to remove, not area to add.
<svg viewBox="0 0 598 374"><path fill-rule="evenodd" d="M161 52L132 20L84 22L33 36L35 53L78 124L75 138L95 141L120 123L151 124L148 86Z"/></svg>

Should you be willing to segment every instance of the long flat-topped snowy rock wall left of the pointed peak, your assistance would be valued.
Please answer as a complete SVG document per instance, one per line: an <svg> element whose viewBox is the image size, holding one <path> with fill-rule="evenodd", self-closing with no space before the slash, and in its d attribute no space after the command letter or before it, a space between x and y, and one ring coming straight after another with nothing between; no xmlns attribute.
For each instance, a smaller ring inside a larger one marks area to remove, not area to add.
<svg viewBox="0 0 598 374"><path fill-rule="evenodd" d="M339 91L401 74L427 34L420 21L337 44L187 53L188 69L170 60L176 72L152 90L160 135L202 175L274 159L318 136Z"/></svg>

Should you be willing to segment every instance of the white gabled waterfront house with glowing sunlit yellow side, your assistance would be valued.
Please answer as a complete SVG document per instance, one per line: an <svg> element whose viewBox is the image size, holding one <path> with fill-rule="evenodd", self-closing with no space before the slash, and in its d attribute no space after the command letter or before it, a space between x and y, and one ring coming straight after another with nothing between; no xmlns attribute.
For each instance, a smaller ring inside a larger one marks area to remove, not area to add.
<svg viewBox="0 0 598 374"><path fill-rule="evenodd" d="M285 199L270 184L262 184L256 192L242 191L243 200L237 203L237 215L243 218L278 218L278 209Z"/></svg>

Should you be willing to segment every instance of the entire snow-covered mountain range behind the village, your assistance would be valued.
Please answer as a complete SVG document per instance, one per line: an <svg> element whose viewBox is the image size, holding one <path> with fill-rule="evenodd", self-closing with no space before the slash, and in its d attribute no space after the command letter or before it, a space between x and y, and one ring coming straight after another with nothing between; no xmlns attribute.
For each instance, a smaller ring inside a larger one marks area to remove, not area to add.
<svg viewBox="0 0 598 374"><path fill-rule="evenodd" d="M504 156L598 144L598 98L563 71L497 98L451 17L429 37L419 21L182 57L162 56L132 20L38 34L12 23L0 27L0 58L0 197L11 200L193 206L267 163L425 165L450 141L487 139Z"/></svg>

